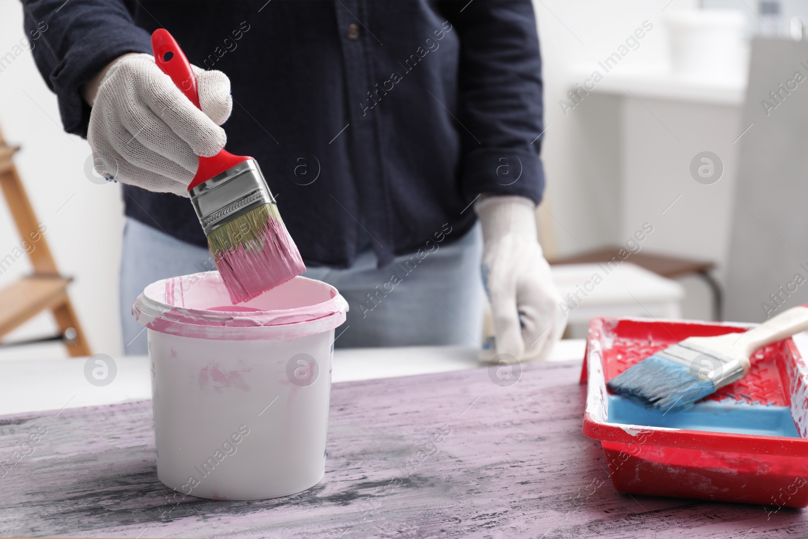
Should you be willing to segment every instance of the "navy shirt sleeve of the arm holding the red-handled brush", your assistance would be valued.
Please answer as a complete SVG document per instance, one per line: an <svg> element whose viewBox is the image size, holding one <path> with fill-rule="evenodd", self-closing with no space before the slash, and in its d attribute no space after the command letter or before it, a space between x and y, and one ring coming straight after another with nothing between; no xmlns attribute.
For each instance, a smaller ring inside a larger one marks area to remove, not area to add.
<svg viewBox="0 0 808 539"><path fill-rule="evenodd" d="M80 88L124 53L151 53L149 32L121 0L23 0L24 26L36 66L59 100L68 133L87 136L90 106Z"/></svg>

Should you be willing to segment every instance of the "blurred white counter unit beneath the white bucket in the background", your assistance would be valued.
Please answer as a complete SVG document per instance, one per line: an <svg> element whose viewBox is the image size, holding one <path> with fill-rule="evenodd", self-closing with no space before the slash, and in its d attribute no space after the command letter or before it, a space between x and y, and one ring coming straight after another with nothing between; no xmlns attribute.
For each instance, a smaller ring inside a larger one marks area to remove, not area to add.
<svg viewBox="0 0 808 539"><path fill-rule="evenodd" d="M593 69L572 66L570 89ZM580 211L597 217L608 234L604 242L625 242L650 223L654 231L643 249L711 260L723 283L730 216L733 209L747 211L733 196L736 156L749 128L741 120L746 86L743 73L693 78L659 65L618 65L569 112L576 152L587 156L578 181L586 182L591 197ZM707 151L723 165L720 179L709 185L690 172L696 155ZM582 219L591 221L587 215ZM686 284L686 313L709 317L709 290L697 280Z"/></svg>

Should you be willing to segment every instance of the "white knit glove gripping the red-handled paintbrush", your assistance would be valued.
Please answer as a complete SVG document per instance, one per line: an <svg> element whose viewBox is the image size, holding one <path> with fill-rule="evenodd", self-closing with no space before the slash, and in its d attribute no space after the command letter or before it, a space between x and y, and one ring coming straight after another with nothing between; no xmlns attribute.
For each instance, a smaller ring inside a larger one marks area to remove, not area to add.
<svg viewBox="0 0 808 539"><path fill-rule="evenodd" d="M87 141L95 171L108 180L188 196L199 155L225 147L233 99L221 71L193 66L202 110L183 95L154 57L123 57L107 70L90 113Z"/></svg>

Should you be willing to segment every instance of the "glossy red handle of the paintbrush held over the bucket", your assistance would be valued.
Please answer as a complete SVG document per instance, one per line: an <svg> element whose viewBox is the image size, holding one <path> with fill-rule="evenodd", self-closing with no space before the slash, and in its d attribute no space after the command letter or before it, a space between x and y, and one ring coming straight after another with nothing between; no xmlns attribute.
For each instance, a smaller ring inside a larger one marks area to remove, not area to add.
<svg viewBox="0 0 808 539"><path fill-rule="evenodd" d="M155 63L157 63L162 72L171 78L179 91L182 91L185 97L191 103L194 103L196 108L201 110L200 96L196 91L194 70L191 69L191 64L185 57L183 49L179 48L177 41L165 28L158 28L152 34L152 53L154 53ZM200 155L200 164L196 169L194 179L188 184L188 190L190 191L200 183L208 181L213 176L221 174L227 169L238 165L238 163L245 162L247 159L252 158L231 154L224 148L212 158Z"/></svg>

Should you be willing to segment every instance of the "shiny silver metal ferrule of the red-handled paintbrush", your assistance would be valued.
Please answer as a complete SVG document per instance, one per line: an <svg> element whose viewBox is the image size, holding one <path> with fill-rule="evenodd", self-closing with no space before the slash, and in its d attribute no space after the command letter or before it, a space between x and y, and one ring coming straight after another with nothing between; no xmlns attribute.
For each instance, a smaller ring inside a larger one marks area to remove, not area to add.
<svg viewBox="0 0 808 539"><path fill-rule="evenodd" d="M204 234L262 204L275 203L255 159L247 159L188 191Z"/></svg>

